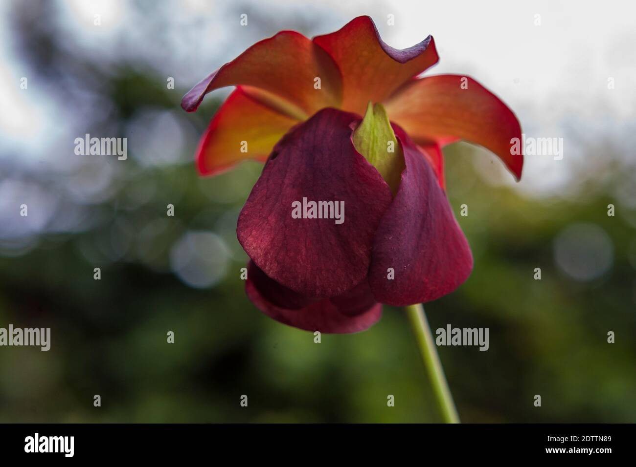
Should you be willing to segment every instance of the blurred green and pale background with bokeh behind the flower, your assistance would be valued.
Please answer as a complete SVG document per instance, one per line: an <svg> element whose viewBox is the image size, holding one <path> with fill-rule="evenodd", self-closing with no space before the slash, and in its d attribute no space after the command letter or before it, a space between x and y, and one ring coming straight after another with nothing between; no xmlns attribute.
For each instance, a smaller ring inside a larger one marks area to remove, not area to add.
<svg viewBox="0 0 636 467"><path fill-rule="evenodd" d="M261 166L198 177L198 137L229 90L179 107L255 41L363 14L392 46L432 34L441 60L427 74L473 76L527 135L563 138L563 159L528 156L518 184L488 151L445 149L475 267L425 309L433 330L490 329L487 352L438 348L462 421L636 421L634 13L612 1L2 0L0 327L50 327L52 342L0 348L0 422L439 421L401 309L315 344L247 300L235 227ZM127 137L128 159L74 154L85 133Z"/></svg>

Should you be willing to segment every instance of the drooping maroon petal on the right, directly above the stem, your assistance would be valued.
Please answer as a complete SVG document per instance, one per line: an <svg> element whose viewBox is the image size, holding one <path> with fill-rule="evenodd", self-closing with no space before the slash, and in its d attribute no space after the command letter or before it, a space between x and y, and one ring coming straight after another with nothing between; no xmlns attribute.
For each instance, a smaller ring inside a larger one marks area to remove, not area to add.
<svg viewBox="0 0 636 467"><path fill-rule="evenodd" d="M406 169L378 226L369 283L377 301L405 306L455 290L471 273L473 255L431 165L401 128L394 130Z"/></svg>

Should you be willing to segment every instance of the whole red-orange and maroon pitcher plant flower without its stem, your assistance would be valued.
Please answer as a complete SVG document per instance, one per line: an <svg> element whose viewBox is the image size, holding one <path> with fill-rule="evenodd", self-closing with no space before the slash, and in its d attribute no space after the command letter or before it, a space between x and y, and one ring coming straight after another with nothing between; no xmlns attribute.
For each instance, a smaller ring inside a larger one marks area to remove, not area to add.
<svg viewBox="0 0 636 467"><path fill-rule="evenodd" d="M380 319L382 304L432 301L469 276L441 147L480 144L519 179L523 156L510 147L521 128L471 78L417 78L437 61L431 36L397 50L358 17L312 40L279 32L184 96L182 107L195 111L206 93L237 86L199 144L202 175L266 161L237 226L251 258L246 292L266 315L357 332Z"/></svg>

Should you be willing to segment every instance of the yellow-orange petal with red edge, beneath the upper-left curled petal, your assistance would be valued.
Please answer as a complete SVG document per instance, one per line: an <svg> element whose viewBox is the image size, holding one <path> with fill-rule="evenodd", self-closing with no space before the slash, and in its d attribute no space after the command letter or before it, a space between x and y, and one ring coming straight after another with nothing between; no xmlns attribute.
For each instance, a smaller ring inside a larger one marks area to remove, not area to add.
<svg viewBox="0 0 636 467"><path fill-rule="evenodd" d="M254 100L239 86L214 114L199 143L199 173L218 175L244 159L264 161L296 123L298 120Z"/></svg>

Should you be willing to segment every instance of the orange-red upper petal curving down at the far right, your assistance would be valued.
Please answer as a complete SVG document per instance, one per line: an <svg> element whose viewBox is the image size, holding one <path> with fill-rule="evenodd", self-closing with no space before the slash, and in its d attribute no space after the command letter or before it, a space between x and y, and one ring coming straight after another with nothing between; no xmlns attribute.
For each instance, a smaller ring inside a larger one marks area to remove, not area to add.
<svg viewBox="0 0 636 467"><path fill-rule="evenodd" d="M443 145L459 138L480 144L497 154L516 179L521 178L523 155L511 154L511 139L521 139L519 121L474 79L452 74L415 79L387 100L385 107L391 121L416 142Z"/></svg>

